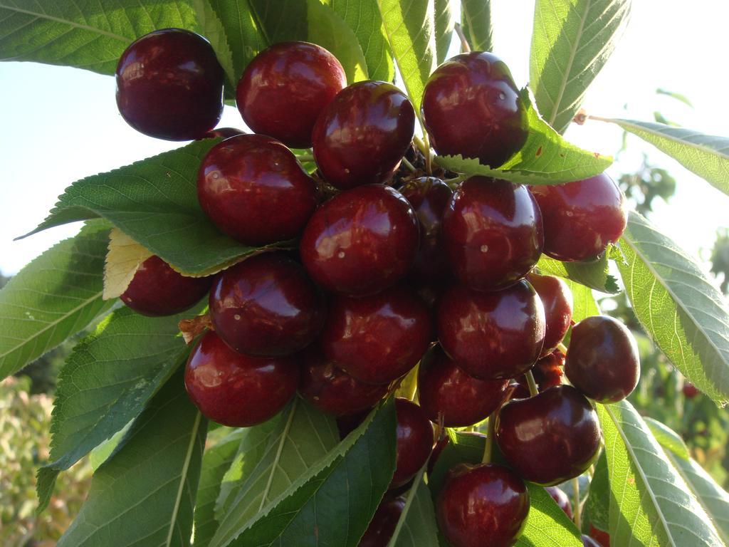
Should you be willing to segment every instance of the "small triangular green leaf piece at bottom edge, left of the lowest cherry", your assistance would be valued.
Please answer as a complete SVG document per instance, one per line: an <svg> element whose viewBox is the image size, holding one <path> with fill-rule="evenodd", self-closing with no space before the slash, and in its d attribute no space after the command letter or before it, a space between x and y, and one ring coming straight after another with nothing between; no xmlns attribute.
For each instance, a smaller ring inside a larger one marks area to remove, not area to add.
<svg viewBox="0 0 729 547"><path fill-rule="evenodd" d="M388 547L438 547L435 510L423 477L426 467L413 479Z"/></svg>

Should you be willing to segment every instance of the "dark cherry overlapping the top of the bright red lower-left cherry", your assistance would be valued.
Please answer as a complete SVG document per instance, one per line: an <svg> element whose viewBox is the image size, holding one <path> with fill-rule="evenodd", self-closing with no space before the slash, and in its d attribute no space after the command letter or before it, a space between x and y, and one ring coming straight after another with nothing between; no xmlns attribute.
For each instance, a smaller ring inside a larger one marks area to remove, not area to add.
<svg viewBox="0 0 729 547"><path fill-rule="evenodd" d="M282 252L266 252L216 276L210 314L215 332L236 352L273 356L311 344L326 308L301 265Z"/></svg>

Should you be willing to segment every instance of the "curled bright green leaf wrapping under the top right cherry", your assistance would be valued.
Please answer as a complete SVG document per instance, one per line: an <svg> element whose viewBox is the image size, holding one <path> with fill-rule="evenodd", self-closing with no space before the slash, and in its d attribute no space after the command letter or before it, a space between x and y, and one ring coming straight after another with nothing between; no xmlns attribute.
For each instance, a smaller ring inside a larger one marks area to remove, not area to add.
<svg viewBox="0 0 729 547"><path fill-rule="evenodd" d="M457 173L493 176L528 185L558 185L587 179L610 166L612 158L569 144L550 128L534 109L526 88L521 91L521 99L526 106L529 136L523 148L503 166L483 166L477 159L460 155L436 156L435 163Z"/></svg>

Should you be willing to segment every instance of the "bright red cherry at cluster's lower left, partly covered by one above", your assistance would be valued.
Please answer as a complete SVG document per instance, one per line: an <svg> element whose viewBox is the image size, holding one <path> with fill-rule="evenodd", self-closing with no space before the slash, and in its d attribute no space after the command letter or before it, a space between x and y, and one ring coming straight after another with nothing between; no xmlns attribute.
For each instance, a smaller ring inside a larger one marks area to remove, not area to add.
<svg viewBox="0 0 729 547"><path fill-rule="evenodd" d="M192 349L184 373L195 406L229 427L250 427L275 416L295 394L298 380L294 357L249 357L214 332Z"/></svg>

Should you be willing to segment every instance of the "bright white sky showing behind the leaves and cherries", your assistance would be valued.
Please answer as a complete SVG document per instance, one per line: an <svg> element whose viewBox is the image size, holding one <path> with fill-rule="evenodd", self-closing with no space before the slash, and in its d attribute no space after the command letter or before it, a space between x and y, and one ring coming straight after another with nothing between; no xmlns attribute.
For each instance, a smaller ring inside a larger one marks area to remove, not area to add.
<svg viewBox="0 0 729 547"><path fill-rule="evenodd" d="M507 61L518 85L529 77L532 0L493 0L495 53ZM623 40L588 92L585 108L604 117L652 121L655 110L669 120L704 133L729 136L724 96L728 76L719 53L726 47L729 3L693 0L636 0ZM36 63L0 63L0 272L15 274L55 241L76 233L76 225L52 228L23 241L15 236L43 220L77 179L147 158L179 143L151 139L121 119L114 79L91 72ZM695 109L656 96L656 88L682 93ZM627 105L627 111L623 106ZM226 107L221 125L243 128L238 111ZM575 144L612 155L621 132L603 123L573 126ZM642 141L610 172L619 176L639 166ZM718 227L729 226L729 197L714 190L660 152L651 158L676 176L674 206L656 203L652 220L687 252L704 260Z"/></svg>

